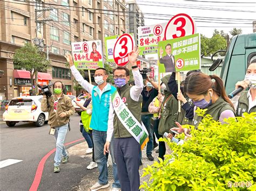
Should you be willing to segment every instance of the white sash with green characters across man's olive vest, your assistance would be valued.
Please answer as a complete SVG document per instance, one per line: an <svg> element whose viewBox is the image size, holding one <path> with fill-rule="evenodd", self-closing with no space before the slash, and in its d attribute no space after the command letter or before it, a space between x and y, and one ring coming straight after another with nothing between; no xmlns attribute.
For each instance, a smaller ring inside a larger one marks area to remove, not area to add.
<svg viewBox="0 0 256 191"><path fill-rule="evenodd" d="M149 141L149 133L147 132L144 124L140 124L138 120L132 115L131 111L126 107L122 98L118 94L117 90L111 95L114 111L119 121L124 125L125 129L131 133L134 139L140 144L140 148L143 147Z"/></svg>

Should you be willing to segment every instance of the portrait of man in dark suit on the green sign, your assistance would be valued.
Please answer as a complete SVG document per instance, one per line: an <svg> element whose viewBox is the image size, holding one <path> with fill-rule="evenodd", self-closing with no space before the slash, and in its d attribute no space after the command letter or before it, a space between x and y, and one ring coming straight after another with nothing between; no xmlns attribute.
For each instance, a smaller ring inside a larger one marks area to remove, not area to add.
<svg viewBox="0 0 256 191"><path fill-rule="evenodd" d="M166 55L163 56L164 50L162 49L162 47L160 47L159 63L164 64L165 72L176 72L175 59L174 59L174 56L172 55L172 45L171 44L165 45L165 52L166 52Z"/></svg>

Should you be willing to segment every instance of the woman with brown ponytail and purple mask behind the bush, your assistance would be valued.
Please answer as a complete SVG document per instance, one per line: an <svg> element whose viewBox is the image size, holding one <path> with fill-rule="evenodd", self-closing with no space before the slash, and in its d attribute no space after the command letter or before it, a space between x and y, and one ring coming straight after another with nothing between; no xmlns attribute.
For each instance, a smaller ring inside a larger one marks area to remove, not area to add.
<svg viewBox="0 0 256 191"><path fill-rule="evenodd" d="M223 123L225 118L235 117L234 106L227 97L223 81L219 76L192 73L185 79L184 91L193 100L194 110L197 108L207 109L206 114L210 114L215 121ZM202 117L194 112L192 125L197 127L201 119ZM171 130L176 130L179 133L185 132L188 135L189 130L183 129L177 122L176 124L179 128Z"/></svg>

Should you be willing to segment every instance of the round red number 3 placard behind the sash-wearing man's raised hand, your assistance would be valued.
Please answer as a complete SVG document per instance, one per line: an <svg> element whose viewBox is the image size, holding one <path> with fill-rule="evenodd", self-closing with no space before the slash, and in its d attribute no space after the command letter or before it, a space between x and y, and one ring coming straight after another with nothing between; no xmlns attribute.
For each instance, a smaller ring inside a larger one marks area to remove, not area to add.
<svg viewBox="0 0 256 191"><path fill-rule="evenodd" d="M134 38L131 34L123 34L117 39L116 44L114 44L114 62L118 66L125 66L128 60L128 54L132 52L134 43Z"/></svg>

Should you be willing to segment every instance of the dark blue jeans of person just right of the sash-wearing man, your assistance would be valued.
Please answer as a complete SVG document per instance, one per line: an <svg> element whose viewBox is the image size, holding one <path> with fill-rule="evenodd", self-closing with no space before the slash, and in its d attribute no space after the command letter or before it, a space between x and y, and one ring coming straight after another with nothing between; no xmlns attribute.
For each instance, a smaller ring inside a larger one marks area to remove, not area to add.
<svg viewBox="0 0 256 191"><path fill-rule="evenodd" d="M151 117L153 117L153 114L142 115L142 122L145 125L147 132L149 133L149 142L147 142L146 154L152 154L153 144L154 144L154 139L153 139L154 130L151 129L151 125L150 125Z"/></svg>

